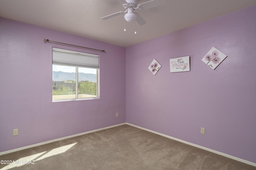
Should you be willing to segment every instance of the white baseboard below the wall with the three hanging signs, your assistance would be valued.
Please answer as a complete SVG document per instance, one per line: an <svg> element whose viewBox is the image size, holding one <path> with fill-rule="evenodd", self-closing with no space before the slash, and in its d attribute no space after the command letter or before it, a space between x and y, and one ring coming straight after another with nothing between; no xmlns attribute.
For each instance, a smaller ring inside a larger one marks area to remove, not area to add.
<svg viewBox="0 0 256 170"><path fill-rule="evenodd" d="M152 130L149 130L149 129L146 129L146 128L143 128L143 127L139 127L139 126L136 126L136 125L133 125L133 124L130 124L130 123L125 123L125 124L126 124L126 125L130 125L130 126L133 126L133 127L137 127L137 128L139 128L139 129L143 129L143 130L145 130L145 131L149 131L149 132L155 133L155 134L157 134L157 135L161 135L161 136L163 136L163 137L167 137L167 138L169 138L169 139L173 139L173 140L175 140L175 141L179 141L179 142L181 142L181 143L186 143L186 144L191 145L191 146L193 146L193 147L197 147L197 148L200 148L200 149L208 150L208 151L210 151L210 152L213 152L213 153L216 153L216 154L219 154L219 155L222 155L222 156L225 156L225 157L228 157L228 158L237 160L237 161L239 161L239 162L243 162L243 163L246 163L246 164L249 164L249 165L252 165L252 166L256 166L256 163L253 163L253 162L250 162L250 161L247 161L247 160L243 160L243 159L237 158L237 157L235 157L235 156L231 156L231 155L229 155L229 154L225 154L225 153L222 153L222 152L218 152L218 151L216 151L216 150L212 150L212 149L209 149L209 148L206 148L206 147L202 147L202 146L200 146L200 145L196 145L196 144L194 144L194 143L190 143L190 142L187 142L187 141L183 141L183 140L181 140L181 139L178 139L178 138L175 138L175 137L171 137L171 136L168 136L168 135L164 135L164 134L162 134L162 133L158 133L158 132L155 132L155 131L152 131Z"/></svg>

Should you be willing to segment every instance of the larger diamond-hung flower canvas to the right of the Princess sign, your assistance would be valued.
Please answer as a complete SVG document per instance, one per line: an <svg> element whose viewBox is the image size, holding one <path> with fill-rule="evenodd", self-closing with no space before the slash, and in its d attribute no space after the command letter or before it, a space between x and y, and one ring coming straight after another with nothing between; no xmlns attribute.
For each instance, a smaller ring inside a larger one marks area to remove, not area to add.
<svg viewBox="0 0 256 170"><path fill-rule="evenodd" d="M226 57L228 56L215 47L212 47L212 49L210 49L210 51L204 56L202 61L214 70L224 59L226 59Z"/></svg>

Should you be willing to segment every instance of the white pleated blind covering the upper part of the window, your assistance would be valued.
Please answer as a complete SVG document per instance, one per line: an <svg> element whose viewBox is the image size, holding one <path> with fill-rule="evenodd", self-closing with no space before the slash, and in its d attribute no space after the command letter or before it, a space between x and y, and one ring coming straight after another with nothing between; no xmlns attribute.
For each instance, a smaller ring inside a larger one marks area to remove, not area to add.
<svg viewBox="0 0 256 170"><path fill-rule="evenodd" d="M99 55L52 48L52 64L99 68Z"/></svg>

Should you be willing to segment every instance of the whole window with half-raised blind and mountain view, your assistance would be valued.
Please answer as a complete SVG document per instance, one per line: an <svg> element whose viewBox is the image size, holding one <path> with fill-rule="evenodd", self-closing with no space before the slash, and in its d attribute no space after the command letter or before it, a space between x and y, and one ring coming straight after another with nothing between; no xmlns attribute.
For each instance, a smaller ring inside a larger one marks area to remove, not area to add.
<svg viewBox="0 0 256 170"><path fill-rule="evenodd" d="M52 48L52 101L98 98L99 55Z"/></svg>

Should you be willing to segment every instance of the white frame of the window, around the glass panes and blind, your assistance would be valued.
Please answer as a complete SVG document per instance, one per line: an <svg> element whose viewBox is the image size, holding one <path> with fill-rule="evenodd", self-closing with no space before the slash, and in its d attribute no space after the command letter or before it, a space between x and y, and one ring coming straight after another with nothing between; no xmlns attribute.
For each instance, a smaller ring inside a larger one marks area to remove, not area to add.
<svg viewBox="0 0 256 170"><path fill-rule="evenodd" d="M61 50L61 51L71 51L71 52L74 52L74 53L80 53L80 54L84 54L84 55L88 55L88 56L96 56L98 57L98 68L90 68L88 66L81 66L80 64L76 65L76 64L61 64L61 63L55 63L54 64L54 57L53 57L53 52L54 50ZM100 98L100 78L99 78L99 73L100 73L100 55L95 55L95 54L90 54L90 53L84 53L84 52L80 52L80 51L73 51L73 50L66 50L66 49L60 49L60 48L55 48L55 47L52 47L52 73L53 73L53 65L59 65L59 66L72 66L72 67L75 67L75 70L76 70L76 82L75 82L75 88L76 88L76 92L75 92L75 98L62 98L62 99L53 99L53 74L52 74L52 102L64 102L64 101L76 101L76 100L94 100L94 99L99 99ZM96 96L95 97L88 97L88 98L78 98L78 73L79 73L79 68L90 68L90 69L95 69L96 70Z"/></svg>

